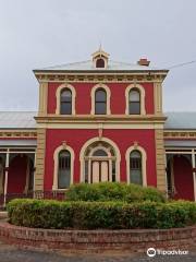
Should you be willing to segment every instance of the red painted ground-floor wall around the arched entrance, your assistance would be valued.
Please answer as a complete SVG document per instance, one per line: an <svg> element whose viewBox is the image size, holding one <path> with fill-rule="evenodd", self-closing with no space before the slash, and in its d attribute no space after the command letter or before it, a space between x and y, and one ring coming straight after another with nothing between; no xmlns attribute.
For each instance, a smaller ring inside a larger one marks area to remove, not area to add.
<svg viewBox="0 0 196 262"><path fill-rule="evenodd" d="M86 141L98 136L97 130L47 130L46 160L45 160L45 190L51 190L53 181L53 153L56 148L66 140L66 143L74 150L74 182L79 182L81 163L79 152ZM137 141L147 154L147 184L157 186L156 175L156 151L155 151L155 131L154 130L105 130L105 138L112 140L121 152L121 181L126 181L126 160L125 152Z"/></svg>

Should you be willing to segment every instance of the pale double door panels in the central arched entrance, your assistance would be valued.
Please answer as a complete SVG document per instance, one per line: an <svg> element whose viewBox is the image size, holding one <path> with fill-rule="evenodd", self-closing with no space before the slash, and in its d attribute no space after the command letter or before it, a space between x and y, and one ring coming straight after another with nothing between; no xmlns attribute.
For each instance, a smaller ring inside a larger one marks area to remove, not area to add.
<svg viewBox="0 0 196 262"><path fill-rule="evenodd" d="M108 160L91 162L91 183L109 181L109 163Z"/></svg>

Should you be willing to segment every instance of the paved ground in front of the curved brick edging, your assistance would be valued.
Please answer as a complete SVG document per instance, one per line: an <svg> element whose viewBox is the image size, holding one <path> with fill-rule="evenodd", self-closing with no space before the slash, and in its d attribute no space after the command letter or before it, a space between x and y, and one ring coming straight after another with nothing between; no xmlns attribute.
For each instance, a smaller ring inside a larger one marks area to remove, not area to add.
<svg viewBox="0 0 196 262"><path fill-rule="evenodd" d="M189 255L159 255L157 258L148 258L146 254L137 255L82 255L65 254L52 252L38 252L29 250L20 250L13 246L0 242L0 262L195 262L196 252Z"/></svg>

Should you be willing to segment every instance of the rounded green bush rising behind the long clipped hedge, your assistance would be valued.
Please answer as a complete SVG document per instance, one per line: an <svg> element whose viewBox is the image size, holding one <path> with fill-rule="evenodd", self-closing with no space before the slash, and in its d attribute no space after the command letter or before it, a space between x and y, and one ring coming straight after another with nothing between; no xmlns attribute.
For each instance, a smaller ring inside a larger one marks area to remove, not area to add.
<svg viewBox="0 0 196 262"><path fill-rule="evenodd" d="M119 182L73 184L66 192L66 199L70 201L124 201L127 203L166 202L164 195L156 188Z"/></svg>

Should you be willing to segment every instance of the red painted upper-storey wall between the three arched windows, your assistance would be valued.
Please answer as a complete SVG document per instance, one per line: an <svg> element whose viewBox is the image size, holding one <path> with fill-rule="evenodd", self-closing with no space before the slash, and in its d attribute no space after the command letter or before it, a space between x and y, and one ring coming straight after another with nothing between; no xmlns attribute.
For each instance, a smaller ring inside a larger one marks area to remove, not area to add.
<svg viewBox="0 0 196 262"><path fill-rule="evenodd" d="M62 83L49 83L48 84L48 114L56 114L57 108L57 88ZM77 115L89 115L91 110L91 88L97 83L70 83L74 86L76 92L75 111ZM124 115L125 114L125 90L130 84L126 83L108 83L107 86L110 88L110 107L111 114ZM146 114L154 114L154 84L143 83L145 88L145 107Z"/></svg>

